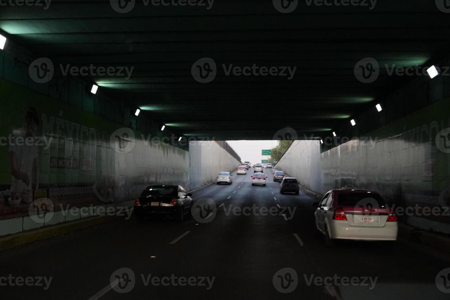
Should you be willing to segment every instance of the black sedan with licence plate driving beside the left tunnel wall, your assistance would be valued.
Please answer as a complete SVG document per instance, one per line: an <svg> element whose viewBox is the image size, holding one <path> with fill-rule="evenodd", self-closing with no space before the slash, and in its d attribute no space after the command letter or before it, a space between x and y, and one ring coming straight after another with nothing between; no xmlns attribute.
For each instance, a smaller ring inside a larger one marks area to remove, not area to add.
<svg viewBox="0 0 450 300"><path fill-rule="evenodd" d="M139 219L159 215L183 221L191 211L191 196L180 185L151 185L135 200L134 212Z"/></svg>

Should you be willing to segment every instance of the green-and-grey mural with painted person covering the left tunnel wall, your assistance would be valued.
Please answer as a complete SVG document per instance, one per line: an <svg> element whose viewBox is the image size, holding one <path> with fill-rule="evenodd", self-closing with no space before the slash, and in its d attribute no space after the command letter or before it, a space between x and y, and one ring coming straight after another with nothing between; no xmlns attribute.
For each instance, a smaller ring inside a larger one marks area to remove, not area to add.
<svg viewBox="0 0 450 300"><path fill-rule="evenodd" d="M81 206L134 199L149 184L187 186L187 151L8 81L0 90L0 217L27 211L42 191Z"/></svg>

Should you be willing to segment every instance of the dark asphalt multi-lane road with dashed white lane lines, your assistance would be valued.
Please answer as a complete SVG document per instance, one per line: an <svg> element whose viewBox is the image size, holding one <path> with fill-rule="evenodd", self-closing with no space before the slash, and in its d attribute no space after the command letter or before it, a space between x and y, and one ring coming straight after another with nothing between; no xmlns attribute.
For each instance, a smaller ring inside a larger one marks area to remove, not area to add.
<svg viewBox="0 0 450 300"><path fill-rule="evenodd" d="M264 171L266 187L252 186L251 169L194 193L216 205L206 223L132 216L0 252L0 297L449 299L435 284L446 255L401 238L327 248L313 233L314 200L281 195L275 169Z"/></svg>

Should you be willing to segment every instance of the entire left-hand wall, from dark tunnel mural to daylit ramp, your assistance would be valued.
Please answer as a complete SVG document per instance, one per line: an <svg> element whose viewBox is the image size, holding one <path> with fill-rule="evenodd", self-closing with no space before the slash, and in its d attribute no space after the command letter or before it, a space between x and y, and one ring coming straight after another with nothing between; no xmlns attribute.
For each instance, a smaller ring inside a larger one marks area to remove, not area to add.
<svg viewBox="0 0 450 300"><path fill-rule="evenodd" d="M3 193L12 189L13 180L10 145L2 143L0 236L90 216L64 215L61 206L130 206L132 199L150 184L180 184L189 190L216 178L216 174L207 179L212 174L190 172L190 166L198 165L189 162L189 144L178 142L170 127L161 131L161 124L153 120L152 114L135 116L135 107L113 99L102 87L97 94L91 94L89 84L63 76L58 68L48 82L36 83L28 74L35 58L18 45L8 49L14 51L0 52L0 138L3 141L14 130L20 130L27 111L36 108L40 119L36 137L50 141L33 151L38 158L39 190L53 201L54 217L36 223L28 213L29 204L7 204L9 196ZM196 157L195 151L200 149L193 148L192 157ZM237 161L236 155L230 151L227 157L227 153L214 143L208 152L202 152L200 166L231 170L230 164L224 162ZM214 157L220 159L214 161ZM35 177L34 173L31 177ZM36 189L33 178L31 188Z"/></svg>

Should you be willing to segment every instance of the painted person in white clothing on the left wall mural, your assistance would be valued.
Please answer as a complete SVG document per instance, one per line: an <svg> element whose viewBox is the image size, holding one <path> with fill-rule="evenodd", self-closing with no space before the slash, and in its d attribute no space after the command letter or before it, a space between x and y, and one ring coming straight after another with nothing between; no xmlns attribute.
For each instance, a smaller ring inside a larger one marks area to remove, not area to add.
<svg viewBox="0 0 450 300"><path fill-rule="evenodd" d="M39 115L36 108L30 107L25 114L25 123L21 128L13 130L8 155L10 161L11 194L19 194L22 201L32 201L32 179L34 174L35 189L39 189L39 151L36 145L36 130Z"/></svg>

